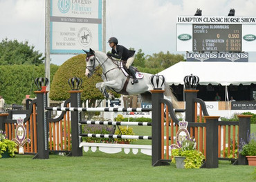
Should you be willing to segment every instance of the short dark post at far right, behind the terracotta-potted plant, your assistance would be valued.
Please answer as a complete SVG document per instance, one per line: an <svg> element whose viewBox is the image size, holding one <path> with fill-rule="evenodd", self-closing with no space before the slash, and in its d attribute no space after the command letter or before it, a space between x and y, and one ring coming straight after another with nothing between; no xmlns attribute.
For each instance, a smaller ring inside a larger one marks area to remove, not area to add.
<svg viewBox="0 0 256 182"><path fill-rule="evenodd" d="M249 136L250 136L250 118L253 117L253 115L238 115L239 118L239 149L241 149L241 139L243 139L244 142L248 143ZM248 165L248 161L246 159L246 156L243 156L241 154L238 155L238 164L239 165Z"/></svg>

